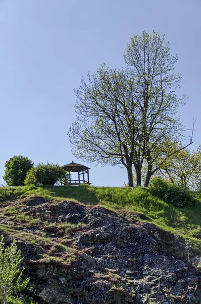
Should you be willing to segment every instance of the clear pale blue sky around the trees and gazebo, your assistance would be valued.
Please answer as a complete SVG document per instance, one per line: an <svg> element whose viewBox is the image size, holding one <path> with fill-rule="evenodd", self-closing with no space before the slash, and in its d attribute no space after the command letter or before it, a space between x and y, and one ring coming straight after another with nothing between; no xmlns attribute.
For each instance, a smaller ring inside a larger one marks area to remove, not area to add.
<svg viewBox="0 0 201 304"><path fill-rule="evenodd" d="M75 159L66 135L75 121L73 92L82 77L106 63L124 65L123 53L143 30L166 34L182 74L179 109L193 144L201 142L200 0L0 0L0 184L5 162L27 156L35 165L74 162L91 168L98 186L123 186L127 170Z"/></svg>

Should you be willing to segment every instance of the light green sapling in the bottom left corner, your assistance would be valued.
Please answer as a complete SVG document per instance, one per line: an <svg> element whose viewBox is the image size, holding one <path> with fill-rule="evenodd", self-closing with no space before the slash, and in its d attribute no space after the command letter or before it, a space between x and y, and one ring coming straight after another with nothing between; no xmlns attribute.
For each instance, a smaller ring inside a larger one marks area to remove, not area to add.
<svg viewBox="0 0 201 304"><path fill-rule="evenodd" d="M22 270L19 268L20 262L23 260L21 257L21 251L17 250L16 240L13 243L4 248L4 236L1 236L0 240L0 294L2 297L2 304L6 304L8 296L14 292L24 289L29 278L25 281L22 280Z"/></svg>

